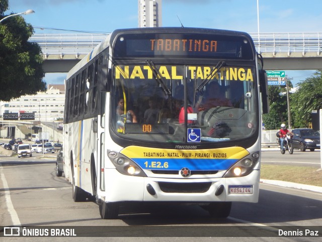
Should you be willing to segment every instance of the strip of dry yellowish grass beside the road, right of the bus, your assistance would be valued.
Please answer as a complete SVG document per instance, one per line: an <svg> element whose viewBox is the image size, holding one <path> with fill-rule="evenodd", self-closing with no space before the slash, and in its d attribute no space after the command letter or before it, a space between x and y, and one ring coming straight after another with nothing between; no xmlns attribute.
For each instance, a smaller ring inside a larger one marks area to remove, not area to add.
<svg viewBox="0 0 322 242"><path fill-rule="evenodd" d="M295 182L322 187L322 169L262 163L261 179Z"/></svg>

